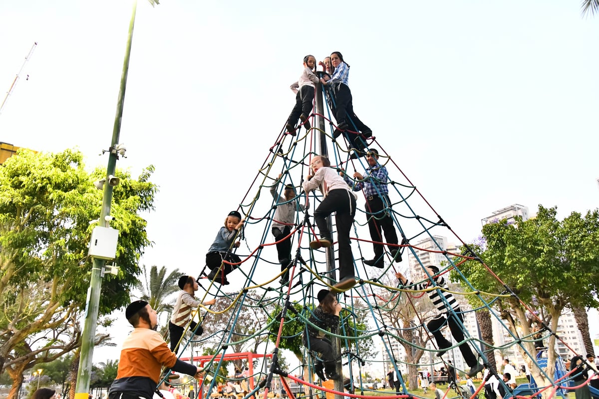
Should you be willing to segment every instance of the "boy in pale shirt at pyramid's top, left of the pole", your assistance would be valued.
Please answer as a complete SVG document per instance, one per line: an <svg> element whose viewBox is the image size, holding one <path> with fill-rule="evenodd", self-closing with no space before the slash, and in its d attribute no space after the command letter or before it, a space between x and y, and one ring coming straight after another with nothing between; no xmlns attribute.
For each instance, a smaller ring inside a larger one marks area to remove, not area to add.
<svg viewBox="0 0 599 399"><path fill-rule="evenodd" d="M285 127L290 135L295 136L295 123L298 118L304 123L305 129L310 129L308 117L312 112L314 100L314 89L318 78L314 75L316 71L316 58L308 54L304 57L304 71L299 75L297 82L291 84L291 90L295 93L295 106L287 120Z"/></svg>

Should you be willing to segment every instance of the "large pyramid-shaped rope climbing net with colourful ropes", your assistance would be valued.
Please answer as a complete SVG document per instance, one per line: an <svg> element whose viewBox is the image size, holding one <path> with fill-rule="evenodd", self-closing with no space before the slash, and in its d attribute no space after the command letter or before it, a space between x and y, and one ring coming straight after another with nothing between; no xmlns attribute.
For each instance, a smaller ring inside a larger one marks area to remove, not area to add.
<svg viewBox="0 0 599 399"><path fill-rule="evenodd" d="M338 125L335 90L315 86L314 112L301 114L297 126L288 120L265 145L262 165L238 207L243 227L232 230L235 240L220 267L205 268L198 278L216 304L200 307L195 321L204 333L184 334L178 355L206 368L199 391L267 398L277 380L290 397L422 397L416 392L418 367L444 367L454 376L483 375L498 392L512 392L494 364L483 367L495 349L511 346L527 355L533 374L527 389L518 387L513 395L563 395L571 389L574 370L543 357L538 345L555 333L540 320L536 331L516 336L510 330L492 305L504 297L519 300L517 294L507 285L502 293L485 293L468 282L462 266L502 283L403 173L384 139L359 129L353 111L346 126ZM448 235L462 243L461 252L447 252L438 242ZM423 240L434 245L419 248ZM430 254L443 261L432 264ZM226 285L228 273L243 275L243 287ZM512 337L506 346L495 347L465 327L465 319L481 310ZM374 357L375 346L388 363ZM281 349L291 350L301 364L286 369ZM449 353L459 362L451 363ZM228 376L223 363L241 358L249 370ZM255 359L264 360L258 370ZM385 395L366 387L366 363L379 363L377 369L397 380ZM448 382L447 397L476 397L489 385L468 391L455 377Z"/></svg>

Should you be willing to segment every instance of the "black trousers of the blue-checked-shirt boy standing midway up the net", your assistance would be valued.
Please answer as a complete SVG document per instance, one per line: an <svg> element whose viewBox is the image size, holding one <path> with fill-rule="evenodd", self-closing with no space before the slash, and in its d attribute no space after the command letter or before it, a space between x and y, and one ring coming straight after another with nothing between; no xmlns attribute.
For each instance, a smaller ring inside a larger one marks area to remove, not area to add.
<svg viewBox="0 0 599 399"><path fill-rule="evenodd" d="M397 233L395 233L395 226L393 219L389 215L388 211L385 211L389 202L389 197L373 196L367 197L366 199L366 212L368 215L368 230L370 230L370 238L373 241L374 258L376 260L381 259L385 248L378 242L383 242L383 236L381 230L385 233L385 240L390 244L397 244ZM389 249L400 249L398 246L389 246Z"/></svg>

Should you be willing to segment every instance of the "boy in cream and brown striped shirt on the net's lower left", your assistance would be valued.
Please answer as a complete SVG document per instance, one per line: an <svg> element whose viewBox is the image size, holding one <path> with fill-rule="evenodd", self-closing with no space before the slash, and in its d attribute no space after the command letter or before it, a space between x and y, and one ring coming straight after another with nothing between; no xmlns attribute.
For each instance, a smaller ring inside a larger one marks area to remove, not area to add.
<svg viewBox="0 0 599 399"><path fill-rule="evenodd" d="M183 331L189 322L192 310L201 304L201 301L196 300L193 297L195 291L198 291L199 286L192 276L181 276L177 285L179 285L181 291L179 291L179 296L177 296L177 301L175 302L175 307L173 309L173 315L168 321L168 333L170 334L171 339L171 351L175 353L177 353L179 350L179 341L181 340ZM216 303L216 300L210 299L205 301L203 304L204 306L210 306L214 303ZM189 331L192 331L196 336L199 336L204 332L204 329L201 325L196 329L197 326L198 324L195 321L191 321L189 324Z"/></svg>

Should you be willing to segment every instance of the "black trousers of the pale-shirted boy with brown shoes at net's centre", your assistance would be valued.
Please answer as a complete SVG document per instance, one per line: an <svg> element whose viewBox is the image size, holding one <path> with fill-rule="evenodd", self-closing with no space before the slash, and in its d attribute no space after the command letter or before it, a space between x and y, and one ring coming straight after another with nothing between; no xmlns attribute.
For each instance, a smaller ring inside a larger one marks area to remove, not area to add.
<svg viewBox="0 0 599 399"><path fill-rule="evenodd" d="M352 243L349 240L349 231L353 218L356 215L356 199L349 190L337 188L331 190L322 200L316 211L314 221L320 236L332 241L331 232L326 223L326 217L335 212L337 224L337 241L339 245L339 280L353 276Z"/></svg>

